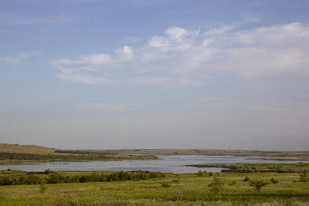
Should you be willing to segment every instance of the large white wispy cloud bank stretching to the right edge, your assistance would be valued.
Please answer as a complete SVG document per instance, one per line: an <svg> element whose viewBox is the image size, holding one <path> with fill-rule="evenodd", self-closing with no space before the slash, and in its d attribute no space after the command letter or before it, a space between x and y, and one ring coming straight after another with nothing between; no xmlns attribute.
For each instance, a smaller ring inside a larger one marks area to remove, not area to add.
<svg viewBox="0 0 309 206"><path fill-rule="evenodd" d="M53 66L59 71L58 78L87 84L197 86L204 77L225 71L256 81L308 80L308 25L234 28L229 25L202 33L201 29L170 27L143 47L125 46L114 54L60 59Z"/></svg>

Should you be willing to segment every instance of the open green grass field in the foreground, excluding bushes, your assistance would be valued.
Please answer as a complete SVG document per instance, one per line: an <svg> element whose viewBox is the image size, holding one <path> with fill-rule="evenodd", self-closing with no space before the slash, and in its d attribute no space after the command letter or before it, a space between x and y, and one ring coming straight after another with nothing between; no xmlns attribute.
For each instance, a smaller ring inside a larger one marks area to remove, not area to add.
<svg viewBox="0 0 309 206"><path fill-rule="evenodd" d="M178 185L173 183L175 176L47 185L43 193L40 185L1 186L0 205L309 205L309 183L300 183L295 173L220 174L226 183L218 195L208 190L212 176L181 174ZM258 192L243 181L245 176L266 181L274 178L279 183L266 185ZM162 187L162 183L170 183L171 187Z"/></svg>

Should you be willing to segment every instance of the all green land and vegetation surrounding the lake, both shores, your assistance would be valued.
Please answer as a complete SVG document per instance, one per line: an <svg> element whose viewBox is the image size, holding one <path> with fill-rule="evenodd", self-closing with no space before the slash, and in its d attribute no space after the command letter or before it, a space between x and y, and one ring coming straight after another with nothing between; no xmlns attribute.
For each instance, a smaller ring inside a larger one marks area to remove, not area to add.
<svg viewBox="0 0 309 206"><path fill-rule="evenodd" d="M58 150L56 152L54 148L17 144L0 144L0 151L0 164L72 161L74 159L76 161L151 159L157 158L154 155L163 153L166 155L209 155L209 152L212 152L211 155L264 155L276 159L279 157L308 158L308 152L242 150ZM2 170L0 171L0 206L309 205L309 185L306 184L308 163L194 166L227 169L220 173L220 177L219 173L207 173L206 171L200 171L197 174L171 174L147 171L54 172L46 170L45 172L23 172ZM264 181L265 179L271 181Z"/></svg>

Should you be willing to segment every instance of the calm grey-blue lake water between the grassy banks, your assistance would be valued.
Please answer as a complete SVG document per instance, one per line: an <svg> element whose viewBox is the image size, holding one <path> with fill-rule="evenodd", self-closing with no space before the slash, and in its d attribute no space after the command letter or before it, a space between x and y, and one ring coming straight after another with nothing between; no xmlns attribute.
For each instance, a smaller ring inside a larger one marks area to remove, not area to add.
<svg viewBox="0 0 309 206"><path fill-rule="evenodd" d="M299 163L299 161L266 161L262 157L233 157L233 156L203 156L203 155L161 155L156 160L144 161L91 161L91 162L55 162L36 163L25 165L0 165L0 170L23 170L28 172L44 172L47 169L54 171L113 171L119 172L144 170L174 173L196 173L199 170L220 172L223 168L194 168L185 165L201 163ZM309 161L302 161L309 162Z"/></svg>

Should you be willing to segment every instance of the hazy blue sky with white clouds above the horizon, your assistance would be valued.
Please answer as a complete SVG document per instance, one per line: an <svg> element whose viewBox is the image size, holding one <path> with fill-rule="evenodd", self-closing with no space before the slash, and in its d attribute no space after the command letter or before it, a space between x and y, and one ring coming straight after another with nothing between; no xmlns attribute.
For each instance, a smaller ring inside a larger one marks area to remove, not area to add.
<svg viewBox="0 0 309 206"><path fill-rule="evenodd" d="M309 2L0 0L0 141L309 150Z"/></svg>

